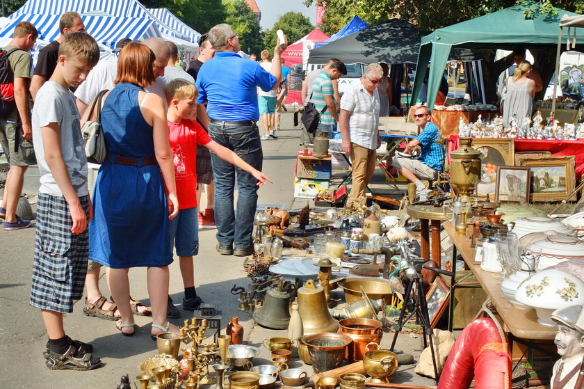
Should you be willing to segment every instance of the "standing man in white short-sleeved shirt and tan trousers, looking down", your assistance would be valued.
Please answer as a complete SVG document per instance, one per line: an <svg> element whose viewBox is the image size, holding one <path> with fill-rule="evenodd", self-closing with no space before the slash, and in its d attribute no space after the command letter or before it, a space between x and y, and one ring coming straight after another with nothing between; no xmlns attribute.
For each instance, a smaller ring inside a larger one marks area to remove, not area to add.
<svg viewBox="0 0 584 389"><path fill-rule="evenodd" d="M341 99L339 127L343 138L343 152L350 153L352 162L352 187L347 198L348 207L364 202L365 189L375 170L375 150L381 143L377 88L382 77L381 65L371 63L359 82L353 83Z"/></svg>

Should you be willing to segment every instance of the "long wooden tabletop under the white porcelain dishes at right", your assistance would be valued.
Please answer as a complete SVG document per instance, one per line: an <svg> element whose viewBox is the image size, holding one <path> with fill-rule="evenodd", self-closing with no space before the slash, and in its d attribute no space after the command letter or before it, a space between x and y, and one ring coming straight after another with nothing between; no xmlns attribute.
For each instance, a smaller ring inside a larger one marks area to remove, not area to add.
<svg viewBox="0 0 584 389"><path fill-rule="evenodd" d="M539 324L535 310L521 310L511 305L501 292L501 280L496 280L494 273L480 269L480 264L473 263L475 249L471 248L471 241L462 235L457 235L448 221L444 223L444 230L448 232L455 246L454 257L456 251L462 255L482 289L491 297L493 305L503 319L503 330L511 333L515 338L524 340L553 340L555 327Z"/></svg>

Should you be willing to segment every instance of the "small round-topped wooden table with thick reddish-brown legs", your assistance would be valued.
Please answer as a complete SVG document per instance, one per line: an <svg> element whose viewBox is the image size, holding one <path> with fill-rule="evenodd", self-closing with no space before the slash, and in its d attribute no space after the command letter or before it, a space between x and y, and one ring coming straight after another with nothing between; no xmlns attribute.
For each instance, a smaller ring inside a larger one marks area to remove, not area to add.
<svg viewBox="0 0 584 389"><path fill-rule="evenodd" d="M438 267L442 266L440 256L440 222L446 220L443 207L433 205L408 205L406 212L409 216L420 219L421 228L421 257L433 260ZM430 225L431 232L428 232ZM432 256L430 257L430 245ZM450 270L450 269L447 269Z"/></svg>

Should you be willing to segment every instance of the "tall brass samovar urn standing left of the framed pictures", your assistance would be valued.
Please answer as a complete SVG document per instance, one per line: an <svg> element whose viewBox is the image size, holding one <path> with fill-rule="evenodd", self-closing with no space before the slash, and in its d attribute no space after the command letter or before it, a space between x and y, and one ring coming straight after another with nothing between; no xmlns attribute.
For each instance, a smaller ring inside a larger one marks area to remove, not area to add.
<svg viewBox="0 0 584 389"><path fill-rule="evenodd" d="M471 148L473 138L459 138L460 147L451 152L451 184L458 199L470 203L480 181L480 151Z"/></svg>

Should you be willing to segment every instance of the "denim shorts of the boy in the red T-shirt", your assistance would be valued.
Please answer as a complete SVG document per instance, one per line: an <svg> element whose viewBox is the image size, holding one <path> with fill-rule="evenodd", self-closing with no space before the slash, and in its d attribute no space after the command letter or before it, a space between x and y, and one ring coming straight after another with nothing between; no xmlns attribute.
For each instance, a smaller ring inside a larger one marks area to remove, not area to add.
<svg viewBox="0 0 584 389"><path fill-rule="evenodd" d="M168 233L174 241L179 257L190 257L199 253L199 216L197 207L179 209L179 213L168 222ZM171 243L172 244L172 243Z"/></svg>

